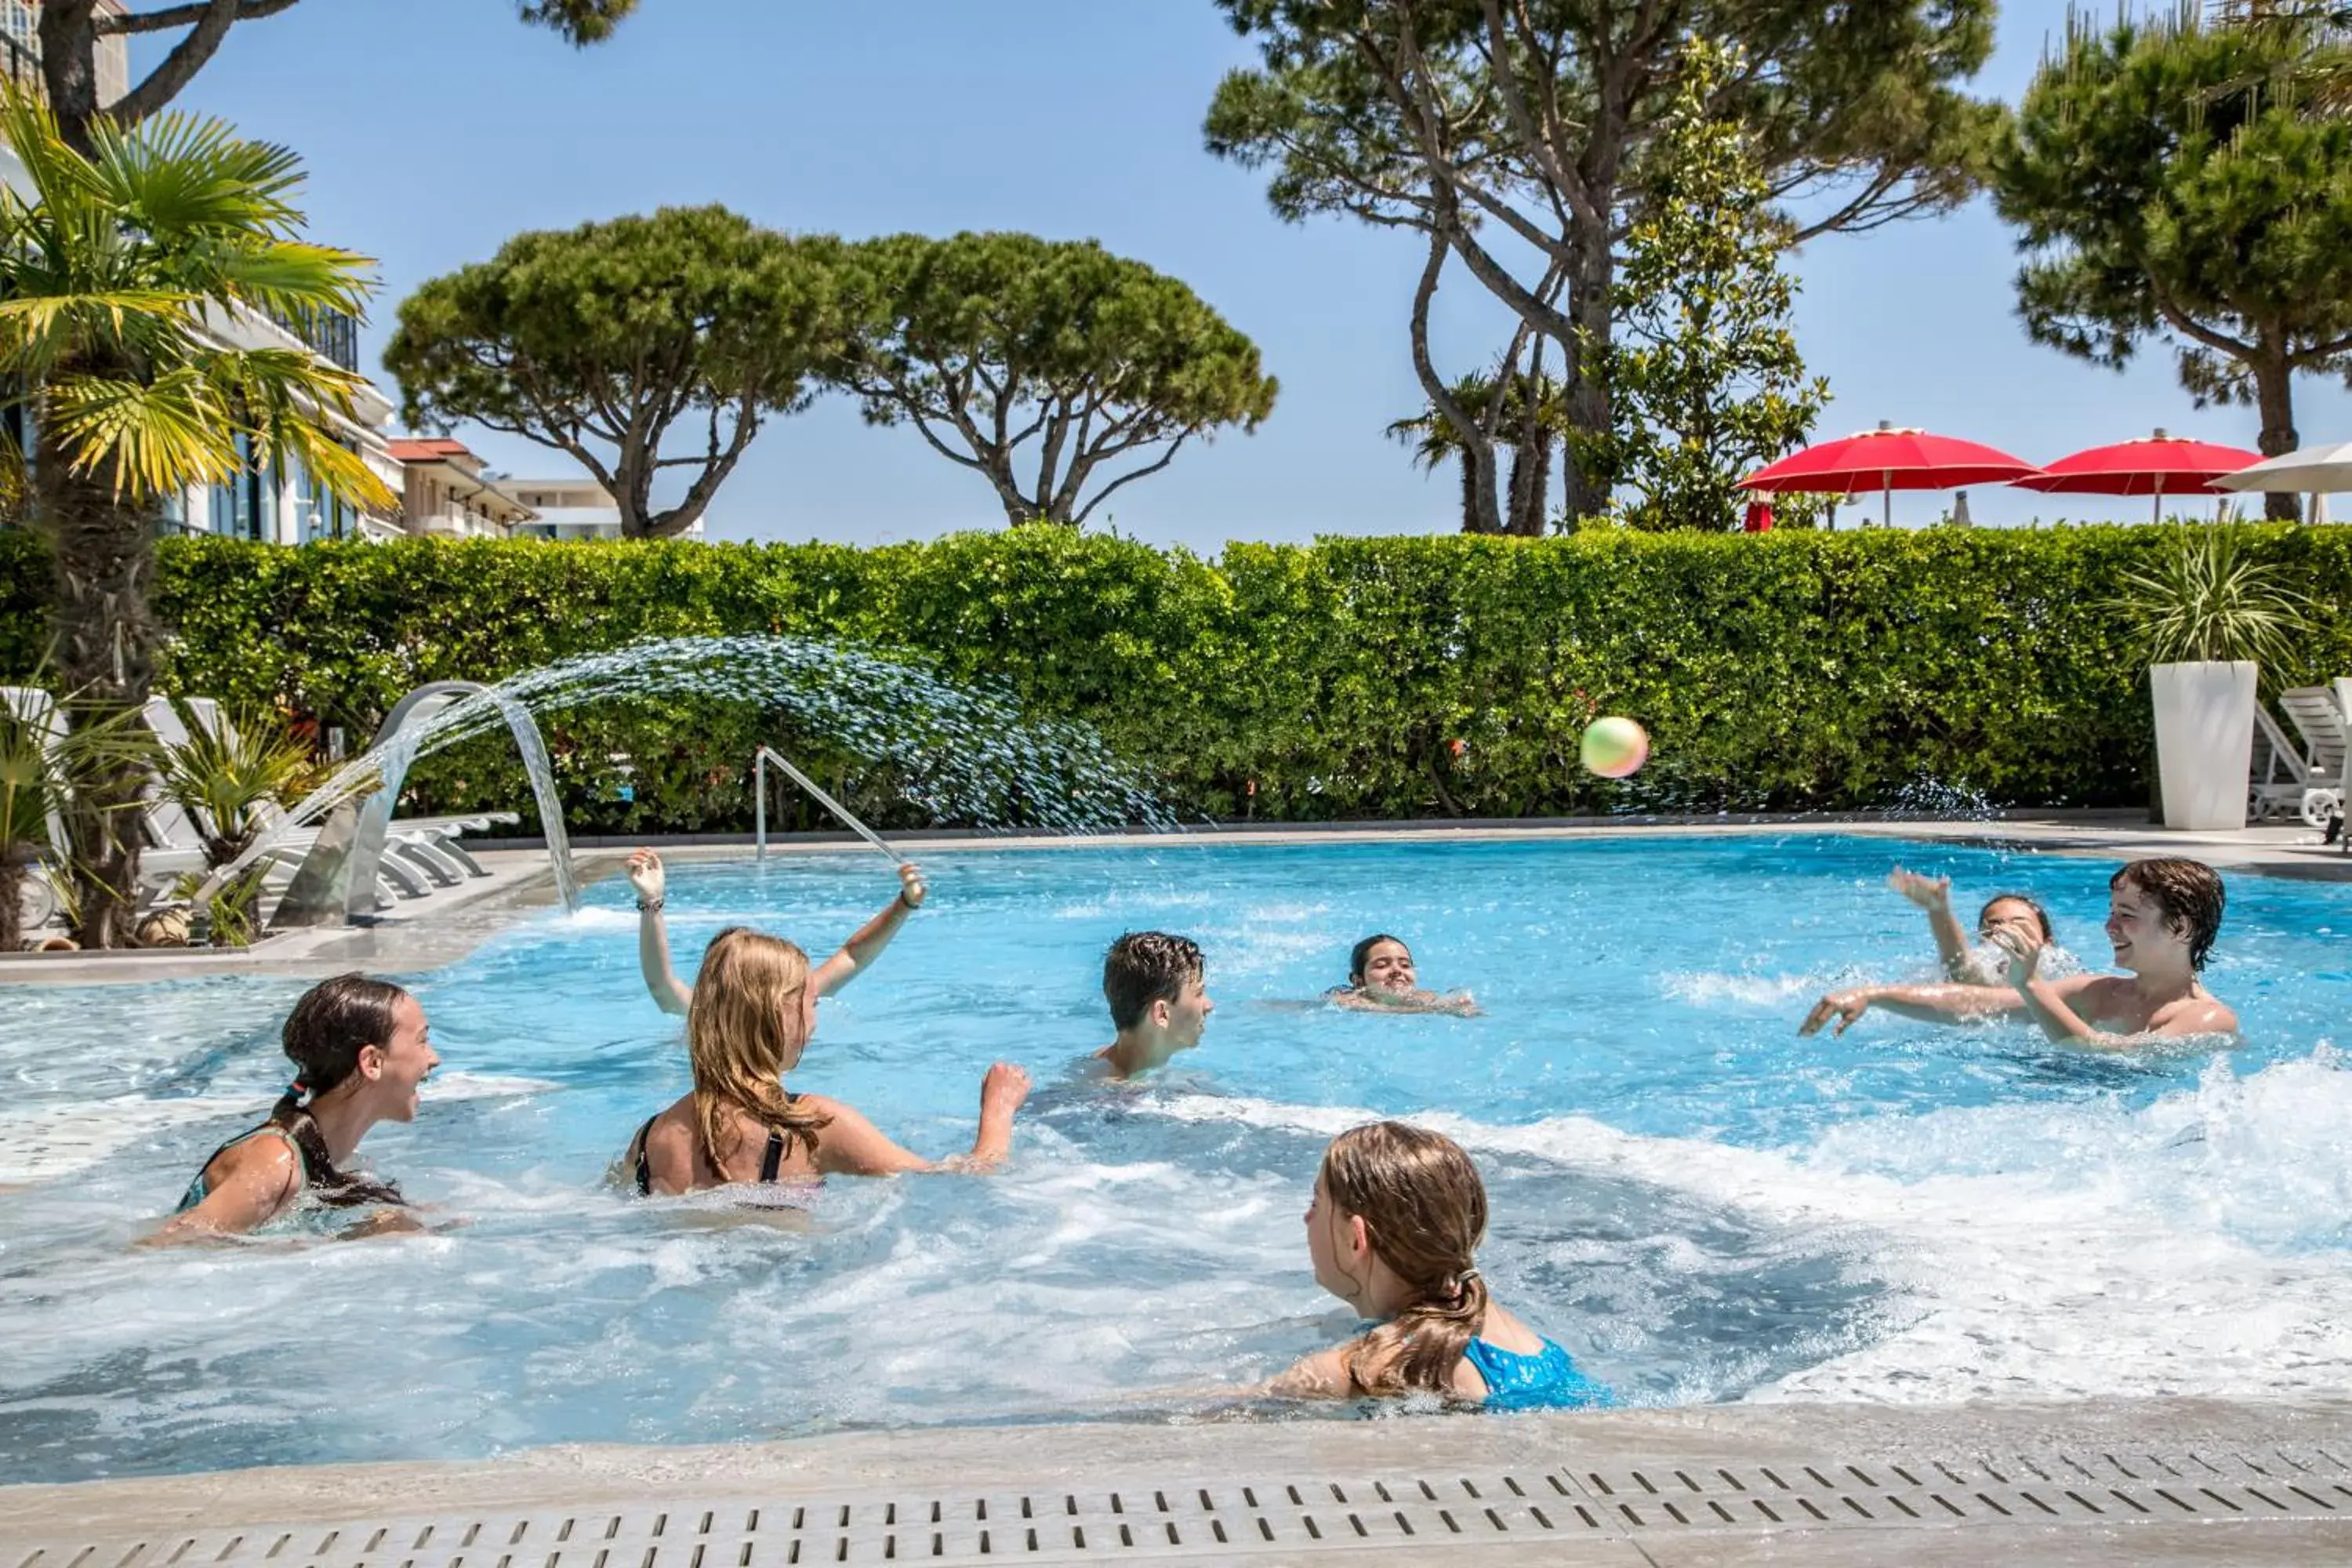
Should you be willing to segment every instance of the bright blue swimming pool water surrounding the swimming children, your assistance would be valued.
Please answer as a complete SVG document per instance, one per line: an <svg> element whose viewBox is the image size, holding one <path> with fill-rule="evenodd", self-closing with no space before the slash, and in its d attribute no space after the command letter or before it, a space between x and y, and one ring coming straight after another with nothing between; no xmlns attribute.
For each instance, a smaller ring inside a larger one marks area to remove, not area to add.
<svg viewBox="0 0 2352 1568"><path fill-rule="evenodd" d="M2340 1392L2352 889L2230 879L2227 1060L1797 1039L1823 987L1926 971L1896 858L1964 914L2032 889L2105 957L2112 863L1837 835L941 853L793 1084L943 1154L1014 1058L1016 1157L837 1180L800 1227L597 1187L687 1084L619 879L400 976L445 1067L367 1154L468 1220L433 1237L132 1251L285 1081L301 985L12 987L0 1182L40 1180L0 1187L0 1474L1185 1418L1348 1333L1298 1215L1324 1138L1390 1112L1472 1150L1496 1293L1632 1401ZM684 863L668 907L682 964L729 922L821 957L889 893L873 853ZM1207 1039L1073 1086L1101 952L1143 926L1207 947ZM1279 1006L1374 929L1489 1016Z"/></svg>

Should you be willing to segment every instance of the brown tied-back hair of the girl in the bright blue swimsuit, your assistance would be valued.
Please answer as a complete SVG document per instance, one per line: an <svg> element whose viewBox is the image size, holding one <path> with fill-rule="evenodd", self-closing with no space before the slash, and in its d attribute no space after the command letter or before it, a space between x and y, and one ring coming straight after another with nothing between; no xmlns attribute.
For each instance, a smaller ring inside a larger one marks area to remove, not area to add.
<svg viewBox="0 0 2352 1568"><path fill-rule="evenodd" d="M1331 1140L1322 1190L1364 1222L1371 1251L1411 1291L1397 1316L1348 1352L1359 1394L1454 1392L1454 1368L1486 1326L1486 1185L1461 1145L1402 1121L1374 1121Z"/></svg>

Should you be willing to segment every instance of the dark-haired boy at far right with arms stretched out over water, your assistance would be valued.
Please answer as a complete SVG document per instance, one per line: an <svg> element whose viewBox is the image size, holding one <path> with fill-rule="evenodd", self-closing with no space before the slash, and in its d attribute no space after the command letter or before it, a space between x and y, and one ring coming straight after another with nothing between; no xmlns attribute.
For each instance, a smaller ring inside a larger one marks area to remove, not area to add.
<svg viewBox="0 0 2352 1568"><path fill-rule="evenodd" d="M2220 933L2220 875L2201 860L2133 860L2107 882L2107 940L2124 976L2042 973L2044 943L2004 926L1992 940L2009 954L2006 985L1865 985L1813 1004L1799 1034L1837 1018L1844 1034L1870 1009L1929 1023L2025 1013L2065 1046L2131 1051L2154 1039L2237 1034L2237 1013L2199 980Z"/></svg>

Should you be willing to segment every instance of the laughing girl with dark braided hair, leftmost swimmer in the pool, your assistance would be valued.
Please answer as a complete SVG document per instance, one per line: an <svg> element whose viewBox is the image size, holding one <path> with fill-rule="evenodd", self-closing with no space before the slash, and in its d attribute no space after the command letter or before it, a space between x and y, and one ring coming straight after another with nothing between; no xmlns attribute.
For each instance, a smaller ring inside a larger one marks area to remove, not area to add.
<svg viewBox="0 0 2352 1568"><path fill-rule="evenodd" d="M416 997L367 976L320 980L287 1013L285 1053L294 1084L268 1121L205 1159L160 1241L242 1234L303 1197L388 1206L346 1234L416 1229L397 1187L341 1171L372 1126L416 1119L416 1086L440 1067Z"/></svg>

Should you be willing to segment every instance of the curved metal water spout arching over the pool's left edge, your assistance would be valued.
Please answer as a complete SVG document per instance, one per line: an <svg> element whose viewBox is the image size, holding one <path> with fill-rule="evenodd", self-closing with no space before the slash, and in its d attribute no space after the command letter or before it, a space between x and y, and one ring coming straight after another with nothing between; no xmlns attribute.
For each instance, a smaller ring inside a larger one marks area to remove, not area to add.
<svg viewBox="0 0 2352 1568"><path fill-rule="evenodd" d="M487 696L506 729L515 736L522 766L532 776L532 797L539 802L539 820L548 837L548 863L555 870L555 891L567 910L581 907L579 882L572 875L572 842L564 835L564 809L555 795L555 771L548 764L548 745L539 733L532 710L515 698L485 686L482 682L428 682L400 698L376 743L369 748L379 757L379 783L365 799L336 806L320 827L318 844L303 856L292 886L278 900L273 926L332 926L376 910L376 867L383 863L383 839L393 830L393 809L400 804L400 785L416 759L412 748L397 745L402 729L419 724L433 712L470 696Z"/></svg>

